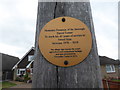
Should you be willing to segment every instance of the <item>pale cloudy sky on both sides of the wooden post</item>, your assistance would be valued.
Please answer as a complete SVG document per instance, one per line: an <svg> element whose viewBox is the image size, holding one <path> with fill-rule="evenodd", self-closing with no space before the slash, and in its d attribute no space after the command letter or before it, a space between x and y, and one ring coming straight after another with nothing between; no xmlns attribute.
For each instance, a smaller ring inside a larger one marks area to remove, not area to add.
<svg viewBox="0 0 120 90"><path fill-rule="evenodd" d="M98 54L118 59L118 1L90 0ZM0 0L0 52L22 58L34 46L38 0Z"/></svg>

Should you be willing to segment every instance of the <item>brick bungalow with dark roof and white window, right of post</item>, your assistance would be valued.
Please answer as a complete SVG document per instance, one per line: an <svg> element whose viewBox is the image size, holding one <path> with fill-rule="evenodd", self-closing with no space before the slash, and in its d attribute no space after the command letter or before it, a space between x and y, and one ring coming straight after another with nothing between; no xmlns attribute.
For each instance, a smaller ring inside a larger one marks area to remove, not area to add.
<svg viewBox="0 0 120 90"><path fill-rule="evenodd" d="M106 56L99 56L102 78L117 78L120 77L119 66L120 61L108 58Z"/></svg>

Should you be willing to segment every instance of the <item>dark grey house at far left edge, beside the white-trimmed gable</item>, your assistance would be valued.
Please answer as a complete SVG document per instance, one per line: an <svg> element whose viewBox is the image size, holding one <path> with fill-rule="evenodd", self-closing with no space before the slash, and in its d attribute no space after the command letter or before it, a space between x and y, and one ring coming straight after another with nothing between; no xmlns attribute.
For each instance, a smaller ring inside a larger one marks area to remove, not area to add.
<svg viewBox="0 0 120 90"><path fill-rule="evenodd" d="M1 80L13 80L13 66L19 61L18 57L0 53L0 79Z"/></svg>

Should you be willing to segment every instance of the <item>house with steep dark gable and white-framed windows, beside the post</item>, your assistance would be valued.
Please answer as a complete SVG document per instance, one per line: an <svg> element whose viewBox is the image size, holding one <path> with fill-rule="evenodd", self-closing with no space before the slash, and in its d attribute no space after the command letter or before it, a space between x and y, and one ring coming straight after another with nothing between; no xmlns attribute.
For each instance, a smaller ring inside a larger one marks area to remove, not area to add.
<svg viewBox="0 0 120 90"><path fill-rule="evenodd" d="M20 75L25 75L27 71L30 72L30 77L32 77L33 61L34 61L34 47L32 47L12 68L14 70L14 80Z"/></svg>

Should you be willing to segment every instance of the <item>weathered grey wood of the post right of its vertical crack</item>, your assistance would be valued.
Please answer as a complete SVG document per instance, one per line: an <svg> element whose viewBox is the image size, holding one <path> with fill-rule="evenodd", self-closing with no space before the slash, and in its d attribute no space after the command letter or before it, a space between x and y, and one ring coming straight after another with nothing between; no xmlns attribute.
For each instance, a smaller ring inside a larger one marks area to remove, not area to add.
<svg viewBox="0 0 120 90"><path fill-rule="evenodd" d="M89 56L79 65L58 67L58 87L60 88L98 88L102 87L99 57L95 40L89 2L57 3L56 17L70 16L84 22L92 33L92 49Z"/></svg>

